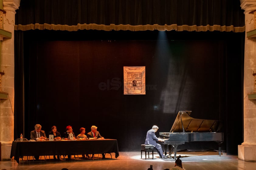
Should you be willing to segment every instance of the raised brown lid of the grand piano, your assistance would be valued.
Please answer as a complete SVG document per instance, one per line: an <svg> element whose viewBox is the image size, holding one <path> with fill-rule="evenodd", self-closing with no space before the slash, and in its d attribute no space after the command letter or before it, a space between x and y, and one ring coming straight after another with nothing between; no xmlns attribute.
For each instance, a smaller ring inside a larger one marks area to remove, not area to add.
<svg viewBox="0 0 256 170"><path fill-rule="evenodd" d="M190 117L191 111L179 111L170 132L217 132L219 120L205 120Z"/></svg>

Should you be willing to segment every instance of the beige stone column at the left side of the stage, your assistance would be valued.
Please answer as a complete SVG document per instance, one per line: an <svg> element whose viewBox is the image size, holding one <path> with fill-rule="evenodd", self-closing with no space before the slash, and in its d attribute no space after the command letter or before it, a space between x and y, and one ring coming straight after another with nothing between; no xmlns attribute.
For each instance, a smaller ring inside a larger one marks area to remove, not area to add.
<svg viewBox="0 0 256 170"><path fill-rule="evenodd" d="M12 38L2 41L1 69L2 91L8 93L8 99L0 101L0 142L2 160L10 160L11 146L14 138L14 24L16 9L20 0L3 0L3 9L6 12L3 18L3 28L12 33Z"/></svg>

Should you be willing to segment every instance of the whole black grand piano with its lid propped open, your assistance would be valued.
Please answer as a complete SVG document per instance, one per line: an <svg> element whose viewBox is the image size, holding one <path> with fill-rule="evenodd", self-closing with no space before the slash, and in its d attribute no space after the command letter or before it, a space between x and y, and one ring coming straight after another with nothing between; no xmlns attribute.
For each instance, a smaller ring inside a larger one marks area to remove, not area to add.
<svg viewBox="0 0 256 170"><path fill-rule="evenodd" d="M219 144L219 156L221 154L221 144L223 143L223 133L220 130L220 121L196 119L190 116L191 111L179 111L172 125L170 132L160 132L160 139L157 143L164 144L165 154L169 146L169 156L174 150L176 159L178 145L185 142L194 141L215 141ZM173 149L171 149L173 146Z"/></svg>

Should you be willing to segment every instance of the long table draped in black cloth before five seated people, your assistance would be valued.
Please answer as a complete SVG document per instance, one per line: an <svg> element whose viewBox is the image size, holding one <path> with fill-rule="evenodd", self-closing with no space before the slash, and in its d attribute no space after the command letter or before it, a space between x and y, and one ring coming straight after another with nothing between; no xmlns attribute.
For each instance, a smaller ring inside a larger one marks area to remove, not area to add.
<svg viewBox="0 0 256 170"><path fill-rule="evenodd" d="M82 155L115 153L119 156L116 139L67 140L67 141L13 141L11 156L19 163L21 156L33 155Z"/></svg>

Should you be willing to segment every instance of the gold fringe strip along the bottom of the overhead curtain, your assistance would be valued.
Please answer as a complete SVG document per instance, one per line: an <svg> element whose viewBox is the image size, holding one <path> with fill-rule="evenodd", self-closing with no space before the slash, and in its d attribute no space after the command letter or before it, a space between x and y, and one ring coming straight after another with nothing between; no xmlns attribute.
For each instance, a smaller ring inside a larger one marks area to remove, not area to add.
<svg viewBox="0 0 256 170"><path fill-rule="evenodd" d="M244 32L245 26L234 27L231 26L220 26L220 25L206 25L206 26L196 26L196 25L98 25L98 24L78 24L78 25L54 25L54 24L29 24L29 25L15 25L15 30L27 31L27 30L61 30L61 31L77 31L77 30L104 30L104 31L119 31L119 30L129 30L129 31L146 31L146 30L158 30L158 31L221 31L221 32Z"/></svg>

